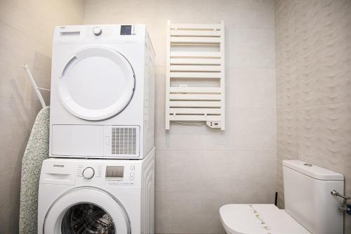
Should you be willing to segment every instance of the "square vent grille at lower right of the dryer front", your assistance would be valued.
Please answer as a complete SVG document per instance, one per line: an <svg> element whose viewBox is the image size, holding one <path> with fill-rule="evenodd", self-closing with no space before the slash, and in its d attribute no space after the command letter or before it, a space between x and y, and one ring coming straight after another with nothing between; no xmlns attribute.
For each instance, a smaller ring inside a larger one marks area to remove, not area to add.
<svg viewBox="0 0 351 234"><path fill-rule="evenodd" d="M136 127L112 128L112 155L135 155L137 152Z"/></svg>

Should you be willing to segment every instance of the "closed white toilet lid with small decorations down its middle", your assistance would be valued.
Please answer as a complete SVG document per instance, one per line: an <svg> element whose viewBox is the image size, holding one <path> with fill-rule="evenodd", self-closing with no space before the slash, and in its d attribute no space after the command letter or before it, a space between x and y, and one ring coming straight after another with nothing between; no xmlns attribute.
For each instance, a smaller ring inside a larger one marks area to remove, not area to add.
<svg viewBox="0 0 351 234"><path fill-rule="evenodd" d="M231 234L311 234L274 204L225 204L220 220Z"/></svg>

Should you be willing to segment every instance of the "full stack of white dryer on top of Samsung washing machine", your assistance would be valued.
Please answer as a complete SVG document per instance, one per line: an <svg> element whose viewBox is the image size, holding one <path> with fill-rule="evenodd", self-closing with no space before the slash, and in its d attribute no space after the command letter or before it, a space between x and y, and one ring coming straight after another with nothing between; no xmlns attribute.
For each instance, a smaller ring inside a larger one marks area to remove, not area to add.
<svg viewBox="0 0 351 234"><path fill-rule="evenodd" d="M154 51L145 25L56 27L39 234L154 233Z"/></svg>

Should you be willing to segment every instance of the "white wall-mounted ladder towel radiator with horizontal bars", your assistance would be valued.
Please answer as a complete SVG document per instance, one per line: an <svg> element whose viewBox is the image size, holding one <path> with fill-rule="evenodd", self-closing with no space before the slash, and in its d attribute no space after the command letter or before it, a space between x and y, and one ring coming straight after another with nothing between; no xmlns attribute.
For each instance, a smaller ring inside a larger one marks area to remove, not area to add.
<svg viewBox="0 0 351 234"><path fill-rule="evenodd" d="M167 23L166 129L206 122L225 129L225 29L220 24Z"/></svg>

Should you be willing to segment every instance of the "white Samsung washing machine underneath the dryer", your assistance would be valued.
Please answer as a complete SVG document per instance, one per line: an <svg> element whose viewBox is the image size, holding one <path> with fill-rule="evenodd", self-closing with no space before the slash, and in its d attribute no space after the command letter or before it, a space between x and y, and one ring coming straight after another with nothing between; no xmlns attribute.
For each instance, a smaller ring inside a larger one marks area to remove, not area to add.
<svg viewBox="0 0 351 234"><path fill-rule="evenodd" d="M154 150L143 160L44 160L38 233L153 234Z"/></svg>

